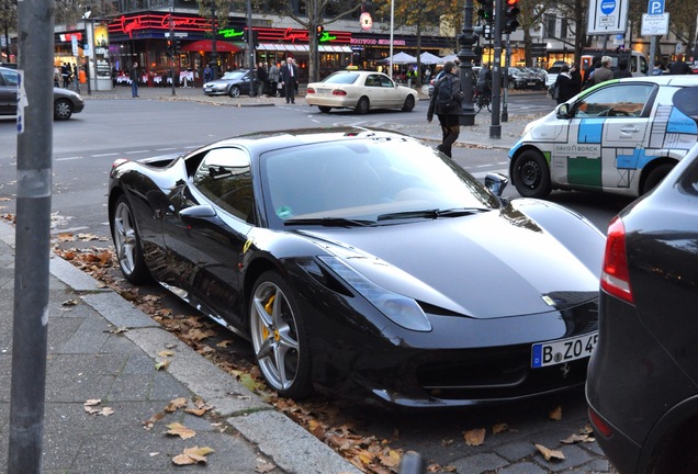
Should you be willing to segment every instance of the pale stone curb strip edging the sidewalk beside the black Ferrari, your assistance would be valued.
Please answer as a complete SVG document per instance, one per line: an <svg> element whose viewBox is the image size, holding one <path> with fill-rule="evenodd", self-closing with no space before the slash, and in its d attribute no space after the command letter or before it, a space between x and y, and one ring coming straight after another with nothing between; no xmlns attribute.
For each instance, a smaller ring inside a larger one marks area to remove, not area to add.
<svg viewBox="0 0 698 474"><path fill-rule="evenodd" d="M14 248L14 227L0 222L0 240ZM239 435L269 456L286 473L361 474L347 460L305 429L264 402L214 363L135 308L116 292L68 261L52 253L49 272L115 327L153 360L164 347L172 347L177 364L168 373L192 393L200 395L214 411L227 419Z"/></svg>

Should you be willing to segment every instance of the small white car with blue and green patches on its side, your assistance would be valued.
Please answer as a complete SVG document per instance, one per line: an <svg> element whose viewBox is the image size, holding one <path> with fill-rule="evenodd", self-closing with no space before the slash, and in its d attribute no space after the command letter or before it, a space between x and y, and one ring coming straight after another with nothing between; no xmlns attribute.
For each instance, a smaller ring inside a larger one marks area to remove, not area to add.
<svg viewBox="0 0 698 474"><path fill-rule="evenodd" d="M517 191L646 193L696 145L696 122L672 101L686 87L698 76L611 79L558 105L509 150Z"/></svg>

